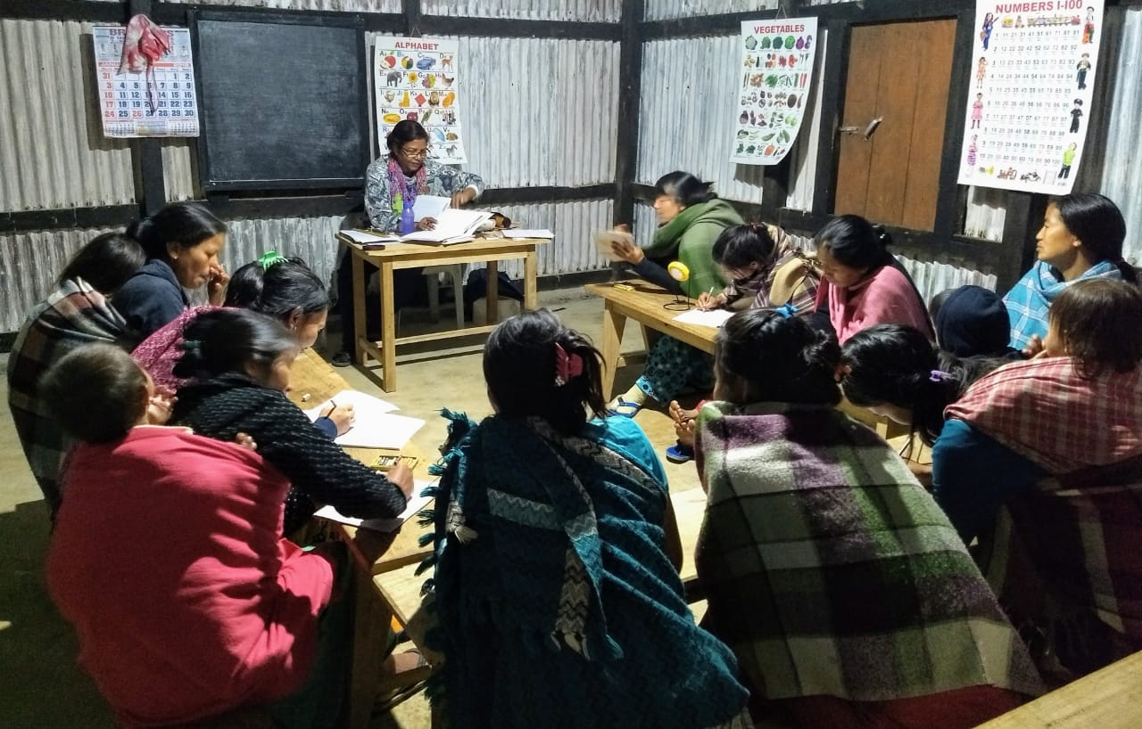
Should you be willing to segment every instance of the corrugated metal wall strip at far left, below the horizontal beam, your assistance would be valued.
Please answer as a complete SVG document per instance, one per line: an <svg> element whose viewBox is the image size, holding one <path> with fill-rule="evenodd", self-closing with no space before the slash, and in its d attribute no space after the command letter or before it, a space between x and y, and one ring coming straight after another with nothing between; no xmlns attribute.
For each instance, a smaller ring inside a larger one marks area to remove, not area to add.
<svg viewBox="0 0 1142 729"><path fill-rule="evenodd" d="M27 311L55 289L71 257L111 229L43 230L0 235L0 332L15 332Z"/></svg>

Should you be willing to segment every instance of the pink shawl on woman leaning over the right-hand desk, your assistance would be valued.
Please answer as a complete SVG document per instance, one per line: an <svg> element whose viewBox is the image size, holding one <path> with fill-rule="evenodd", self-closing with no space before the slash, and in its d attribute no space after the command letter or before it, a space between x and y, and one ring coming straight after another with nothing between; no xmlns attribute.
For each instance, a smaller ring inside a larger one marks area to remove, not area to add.
<svg viewBox="0 0 1142 729"><path fill-rule="evenodd" d="M876 324L903 324L924 332L932 339L927 310L908 277L892 266L882 266L875 274L849 289L838 289L822 280L817 289L817 306L828 301L829 321L842 345Z"/></svg>

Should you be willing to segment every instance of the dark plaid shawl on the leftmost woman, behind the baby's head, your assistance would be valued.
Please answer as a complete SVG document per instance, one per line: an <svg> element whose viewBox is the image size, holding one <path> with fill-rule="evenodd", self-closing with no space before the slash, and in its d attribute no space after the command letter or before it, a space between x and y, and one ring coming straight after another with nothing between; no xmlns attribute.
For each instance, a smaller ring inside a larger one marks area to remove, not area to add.
<svg viewBox="0 0 1142 729"><path fill-rule="evenodd" d="M59 461L71 445L39 396L40 378L82 345L129 346L127 322L86 281L63 282L29 313L8 356L8 407L51 512L59 507Z"/></svg>

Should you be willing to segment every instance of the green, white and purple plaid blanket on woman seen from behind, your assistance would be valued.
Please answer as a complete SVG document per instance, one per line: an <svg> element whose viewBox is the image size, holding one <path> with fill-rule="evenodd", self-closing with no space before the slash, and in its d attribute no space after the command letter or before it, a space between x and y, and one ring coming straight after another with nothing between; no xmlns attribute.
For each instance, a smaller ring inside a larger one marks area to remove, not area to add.
<svg viewBox="0 0 1142 729"><path fill-rule="evenodd" d="M831 407L708 403L698 463L703 626L757 695L1042 691L956 530L868 428Z"/></svg>

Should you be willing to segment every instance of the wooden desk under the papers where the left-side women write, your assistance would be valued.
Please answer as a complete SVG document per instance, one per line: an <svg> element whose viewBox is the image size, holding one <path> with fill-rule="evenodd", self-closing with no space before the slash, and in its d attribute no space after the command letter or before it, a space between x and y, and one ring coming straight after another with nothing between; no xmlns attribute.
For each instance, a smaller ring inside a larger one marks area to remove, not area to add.
<svg viewBox="0 0 1142 729"><path fill-rule="evenodd" d="M289 398L301 408L324 403L343 390L353 389L345 379L313 350L303 351L293 363ZM379 451L376 448L345 448L362 463L371 463ZM428 480L429 459L408 446L407 455L419 459L416 476ZM379 588L373 582L378 574L411 566L424 559L432 550L418 544L420 527L417 518L409 519L403 527L391 533L357 529L346 524L327 523L330 532L348 545L353 559L353 658L349 670L348 727L363 729L369 724L377 692L385 685L379 683L388 642L388 626L393 611ZM397 681L410 683L425 678L426 671L413 671L412 675L401 674ZM394 683L393 680L386 683ZM392 688L392 687L389 687Z"/></svg>

